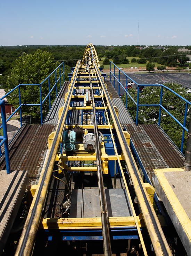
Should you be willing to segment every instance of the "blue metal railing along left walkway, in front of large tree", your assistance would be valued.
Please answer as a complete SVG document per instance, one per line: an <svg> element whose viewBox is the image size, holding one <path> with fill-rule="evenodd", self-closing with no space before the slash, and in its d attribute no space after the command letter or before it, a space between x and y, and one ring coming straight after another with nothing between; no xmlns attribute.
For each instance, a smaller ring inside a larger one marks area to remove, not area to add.
<svg viewBox="0 0 191 256"><path fill-rule="evenodd" d="M61 67L63 66L63 72L61 73ZM59 78L57 79L56 71L59 69ZM50 76L55 75L55 84L50 89ZM40 84L19 84L17 85L13 90L9 91L5 96L1 97L0 100L6 98L10 93L15 91L17 88L19 90L19 106L18 108L9 116L7 119L7 122L9 119L16 113L18 110L20 111L20 126L22 126L22 106L40 106L40 112L41 112L41 125L43 123L42 120L42 105L44 104L45 100L49 97L49 108L51 108L51 92L54 88L56 88L56 97L57 97L57 84L60 82L60 89L61 89L61 77L63 76L63 82L64 82L64 62L62 62L49 76L47 76ZM42 100L42 85L45 81L48 80L48 87L49 87L49 93L45 98ZM40 86L40 104L22 104L21 102L21 93L20 93L20 87L23 85L27 86ZM0 129L2 126L0 127Z"/></svg>

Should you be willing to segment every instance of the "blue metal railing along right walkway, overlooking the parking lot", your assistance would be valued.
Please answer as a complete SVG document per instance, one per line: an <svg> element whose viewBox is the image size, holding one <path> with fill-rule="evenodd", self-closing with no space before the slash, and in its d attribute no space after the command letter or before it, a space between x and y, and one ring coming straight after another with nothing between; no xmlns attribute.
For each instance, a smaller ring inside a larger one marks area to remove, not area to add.
<svg viewBox="0 0 191 256"><path fill-rule="evenodd" d="M111 64L114 65L114 73L111 72ZM115 67L118 69L118 78L115 76ZM124 88L124 86L122 85L122 83L120 82L120 72L122 74L125 75L126 77L126 89ZM181 95L179 95L178 93L176 93L175 91L173 91L172 89L168 88L167 86L163 85L163 84L138 84L136 83L134 80L132 80L129 76L127 76L127 74L125 74L120 68L118 68L113 62L110 61L110 82L111 82L111 75L114 76L114 88L115 88L115 79L118 82L119 85L119 89L120 89L120 85L122 86L122 88L125 90L126 92L126 108L127 108L127 96L130 97L130 99L134 102L134 104L136 105L136 121L135 124L138 125L138 113L139 113L139 107L140 106L158 106L159 107L159 120L158 120L158 125L160 126L160 116L161 116L161 109L163 109L169 116L171 116L181 127L182 127L182 141L181 141L181 152L183 152L183 145L184 145L184 133L185 131L188 132L188 129L185 127L186 125L186 117L187 117L187 111L188 111L188 104L191 105L191 103L184 99ZM127 80L132 81L134 84L136 84L138 86L138 90L137 90L137 101L135 101L132 96L128 93L127 91ZM161 86L161 91L160 91L160 104L139 104L139 88L140 86ZM183 124L178 121L168 110L166 110L165 107L163 107L162 105L162 97L163 97L163 88L171 91L172 93L174 93L176 96L178 96L180 99L182 99L185 102L185 113L184 113L184 122ZM120 93L120 91L119 91Z"/></svg>

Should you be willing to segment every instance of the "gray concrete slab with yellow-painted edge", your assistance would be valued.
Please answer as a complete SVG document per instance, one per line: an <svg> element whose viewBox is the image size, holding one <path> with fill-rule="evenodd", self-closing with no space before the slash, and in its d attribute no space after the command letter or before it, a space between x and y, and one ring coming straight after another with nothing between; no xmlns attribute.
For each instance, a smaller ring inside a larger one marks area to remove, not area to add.
<svg viewBox="0 0 191 256"><path fill-rule="evenodd" d="M186 252L191 256L190 172L183 168L154 169L152 179Z"/></svg>

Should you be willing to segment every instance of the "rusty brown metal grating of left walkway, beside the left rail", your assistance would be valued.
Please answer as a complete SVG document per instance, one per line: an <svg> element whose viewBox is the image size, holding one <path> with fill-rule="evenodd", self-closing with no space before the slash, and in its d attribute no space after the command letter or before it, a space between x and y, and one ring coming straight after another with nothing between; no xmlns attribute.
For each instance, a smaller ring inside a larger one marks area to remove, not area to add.
<svg viewBox="0 0 191 256"><path fill-rule="evenodd" d="M28 188L38 183L46 155L48 135L54 129L54 125L25 125L9 146L11 170L28 171ZM6 169L4 155L0 159L0 169Z"/></svg>

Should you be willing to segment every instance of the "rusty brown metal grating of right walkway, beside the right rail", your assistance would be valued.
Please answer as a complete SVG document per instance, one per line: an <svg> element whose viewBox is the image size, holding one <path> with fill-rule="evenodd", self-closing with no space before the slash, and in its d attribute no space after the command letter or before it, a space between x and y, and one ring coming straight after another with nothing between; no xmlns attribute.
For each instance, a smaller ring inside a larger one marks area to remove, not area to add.
<svg viewBox="0 0 191 256"><path fill-rule="evenodd" d="M154 168L183 167L183 156L159 126L130 124L125 127L151 182Z"/></svg>

